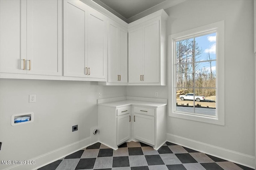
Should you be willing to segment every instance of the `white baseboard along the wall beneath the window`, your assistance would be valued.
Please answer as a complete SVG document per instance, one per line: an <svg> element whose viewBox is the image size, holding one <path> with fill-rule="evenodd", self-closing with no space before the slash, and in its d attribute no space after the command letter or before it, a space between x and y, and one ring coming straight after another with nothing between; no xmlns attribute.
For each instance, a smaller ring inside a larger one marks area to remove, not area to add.
<svg viewBox="0 0 256 170"><path fill-rule="evenodd" d="M242 154L233 150L228 150L207 143L202 143L199 141L194 141L192 139L180 137L177 135L172 135L170 133L166 134L168 142L175 143L193 150L197 150L202 153L206 153L230 162L234 162L243 166L250 168L255 168L255 157L247 154Z"/></svg>

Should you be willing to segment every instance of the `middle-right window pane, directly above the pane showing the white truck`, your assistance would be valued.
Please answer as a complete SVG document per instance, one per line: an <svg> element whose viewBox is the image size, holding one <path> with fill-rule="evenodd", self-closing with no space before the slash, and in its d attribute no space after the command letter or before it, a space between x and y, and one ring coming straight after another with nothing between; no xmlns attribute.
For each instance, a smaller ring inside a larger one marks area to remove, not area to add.
<svg viewBox="0 0 256 170"><path fill-rule="evenodd" d="M216 61L195 63L195 87L216 88Z"/></svg>

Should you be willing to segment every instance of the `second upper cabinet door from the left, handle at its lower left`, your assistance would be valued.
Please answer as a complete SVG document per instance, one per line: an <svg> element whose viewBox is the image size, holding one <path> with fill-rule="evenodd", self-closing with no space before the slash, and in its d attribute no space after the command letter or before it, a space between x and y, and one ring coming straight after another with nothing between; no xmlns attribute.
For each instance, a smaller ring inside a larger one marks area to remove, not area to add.
<svg viewBox="0 0 256 170"><path fill-rule="evenodd" d="M62 1L27 0L27 74L62 75Z"/></svg>

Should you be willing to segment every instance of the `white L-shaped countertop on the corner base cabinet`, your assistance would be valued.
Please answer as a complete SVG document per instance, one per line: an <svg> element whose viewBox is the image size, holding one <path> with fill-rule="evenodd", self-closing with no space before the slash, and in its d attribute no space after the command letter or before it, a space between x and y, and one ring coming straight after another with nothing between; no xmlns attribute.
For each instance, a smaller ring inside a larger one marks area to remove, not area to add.
<svg viewBox="0 0 256 170"><path fill-rule="evenodd" d="M98 105L108 106L108 107L115 107L115 108L129 106L129 105L148 106L148 107L162 107L162 106L166 106L167 103L146 102L146 101L139 101L139 100L121 100L121 101L100 103Z"/></svg>

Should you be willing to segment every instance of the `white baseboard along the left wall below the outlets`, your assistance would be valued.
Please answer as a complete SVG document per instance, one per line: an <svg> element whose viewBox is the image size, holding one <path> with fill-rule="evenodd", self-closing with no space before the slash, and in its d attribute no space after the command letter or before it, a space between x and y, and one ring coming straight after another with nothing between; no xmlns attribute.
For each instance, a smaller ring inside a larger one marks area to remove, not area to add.
<svg viewBox="0 0 256 170"><path fill-rule="evenodd" d="M36 170L92 144L91 137L88 137L70 145L66 145L65 147L40 155L36 158L32 158L30 161L35 161L35 164L17 164L4 170Z"/></svg>

